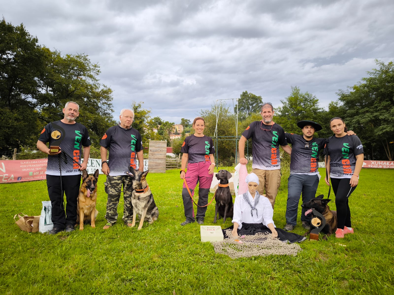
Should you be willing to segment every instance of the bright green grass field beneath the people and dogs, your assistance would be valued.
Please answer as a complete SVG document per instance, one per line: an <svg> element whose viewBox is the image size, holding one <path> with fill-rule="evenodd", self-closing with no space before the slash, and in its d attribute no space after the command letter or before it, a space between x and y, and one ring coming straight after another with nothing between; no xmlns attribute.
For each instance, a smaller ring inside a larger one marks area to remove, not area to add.
<svg viewBox="0 0 394 295"><path fill-rule="evenodd" d="M103 175L97 227L54 236L22 232L13 221L18 212L40 214L41 201L49 200L46 181L0 184L0 293L394 294L393 179L394 170L361 171L349 201L355 234L307 240L294 257L236 260L216 254L209 242L201 243L197 223L180 226L184 214L178 170L148 174L160 214L140 231L123 225L123 201L118 223L102 229ZM283 181L275 204L277 227L285 225L286 184ZM327 194L327 188L322 179L317 193ZM334 201L329 205L335 209ZM205 224L212 225L213 219L212 204ZM228 227L231 219L217 224ZM295 229L298 234L305 231L301 225Z"/></svg>

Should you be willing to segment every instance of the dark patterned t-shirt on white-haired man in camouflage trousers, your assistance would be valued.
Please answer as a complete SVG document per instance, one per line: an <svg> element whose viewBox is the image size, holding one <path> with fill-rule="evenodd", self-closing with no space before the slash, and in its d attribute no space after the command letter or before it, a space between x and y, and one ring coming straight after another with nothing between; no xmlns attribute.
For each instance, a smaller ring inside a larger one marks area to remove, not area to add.
<svg viewBox="0 0 394 295"><path fill-rule="evenodd" d="M110 176L126 175L130 166L137 169L137 152L143 148L141 134L137 129L112 126L102 136L100 146L109 148Z"/></svg>

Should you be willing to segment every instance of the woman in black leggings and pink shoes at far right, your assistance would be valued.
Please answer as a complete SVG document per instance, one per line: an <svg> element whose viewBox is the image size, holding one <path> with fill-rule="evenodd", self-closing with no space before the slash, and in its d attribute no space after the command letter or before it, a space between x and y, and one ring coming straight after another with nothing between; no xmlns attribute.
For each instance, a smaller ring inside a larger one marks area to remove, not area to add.
<svg viewBox="0 0 394 295"><path fill-rule="evenodd" d="M325 182L333 186L335 194L338 228L336 238L343 238L344 234L353 234L351 227L349 197L359 183L359 175L364 160L364 150L360 139L356 135L346 133L348 128L339 118L332 118L330 128L334 135L328 138L325 147L327 157L327 176Z"/></svg>

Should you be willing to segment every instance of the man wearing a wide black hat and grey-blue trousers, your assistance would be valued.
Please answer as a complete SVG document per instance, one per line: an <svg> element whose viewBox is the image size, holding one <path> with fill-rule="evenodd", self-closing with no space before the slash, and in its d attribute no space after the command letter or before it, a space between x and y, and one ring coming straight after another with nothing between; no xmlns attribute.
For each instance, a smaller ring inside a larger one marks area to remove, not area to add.
<svg viewBox="0 0 394 295"><path fill-rule="evenodd" d="M319 185L319 153L326 143L325 138L314 138L316 131L322 126L316 122L303 120L297 123L303 135L285 133L286 140L292 144L290 157L290 176L288 179L286 225L284 230L293 230L297 224L298 202L302 193L302 202L306 203L316 195ZM354 134L348 131L348 134ZM306 210L301 210L301 221L305 229L310 228L310 217L305 216Z"/></svg>

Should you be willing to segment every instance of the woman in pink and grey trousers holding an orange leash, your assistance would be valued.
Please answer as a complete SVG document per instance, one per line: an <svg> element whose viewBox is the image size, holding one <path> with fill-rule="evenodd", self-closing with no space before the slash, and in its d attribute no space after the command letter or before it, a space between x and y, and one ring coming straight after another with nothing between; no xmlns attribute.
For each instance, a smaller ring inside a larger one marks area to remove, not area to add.
<svg viewBox="0 0 394 295"><path fill-rule="evenodd" d="M206 206L208 204L208 193L214 176L215 159L214 143L212 138L204 135L205 121L201 117L193 120L193 129L195 133L185 138L180 152L182 155L182 164L180 170L180 179L185 179L190 189L191 195L194 195L194 188L199 183L199 199L197 202L197 223L204 224ZM188 170L185 172L186 163ZM183 184L182 189L183 206L186 220L180 225L186 225L195 221L193 201L189 192Z"/></svg>

